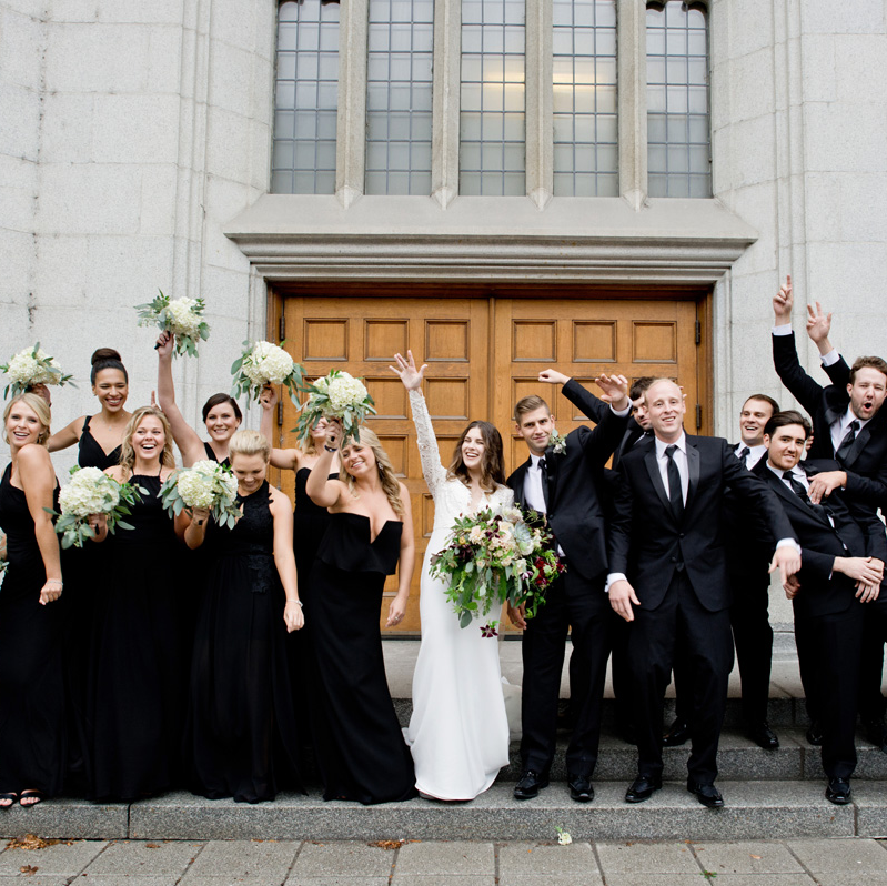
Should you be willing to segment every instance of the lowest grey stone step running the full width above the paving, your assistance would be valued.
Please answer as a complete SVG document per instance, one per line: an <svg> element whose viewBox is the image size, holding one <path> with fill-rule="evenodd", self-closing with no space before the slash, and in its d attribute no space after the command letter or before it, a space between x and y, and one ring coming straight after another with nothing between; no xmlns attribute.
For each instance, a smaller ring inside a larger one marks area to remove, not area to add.
<svg viewBox="0 0 887 886"><path fill-rule="evenodd" d="M361 806L282 794L254 806L169 794L132 805L47 801L33 809L0 816L2 836L93 839L360 839L373 840L554 840L557 827L574 839L760 839L875 837L887 834L887 783L854 783L854 802L835 806L823 782L724 782L723 809L706 809L684 782L668 782L646 803L623 799L626 784L602 782L593 803L570 799L553 784L532 801L512 797L496 784L471 803L414 799Z"/></svg>

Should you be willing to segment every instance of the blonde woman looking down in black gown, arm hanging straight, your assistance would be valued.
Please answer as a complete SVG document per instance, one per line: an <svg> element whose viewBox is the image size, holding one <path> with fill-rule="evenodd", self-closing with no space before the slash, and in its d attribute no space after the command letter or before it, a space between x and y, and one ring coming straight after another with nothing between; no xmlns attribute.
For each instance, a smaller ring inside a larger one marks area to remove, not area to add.
<svg viewBox="0 0 887 886"><path fill-rule="evenodd" d="M290 502L269 485L271 444L256 431L231 439L243 515L234 528L194 509L189 547L211 557L194 640L185 738L191 783L210 799L274 799L299 781L299 717L286 633L304 624Z"/></svg>

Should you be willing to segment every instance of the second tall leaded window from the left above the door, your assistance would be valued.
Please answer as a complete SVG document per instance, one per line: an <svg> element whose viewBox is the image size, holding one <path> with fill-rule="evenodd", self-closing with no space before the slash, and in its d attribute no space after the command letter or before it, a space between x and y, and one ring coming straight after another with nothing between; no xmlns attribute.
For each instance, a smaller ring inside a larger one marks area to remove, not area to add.
<svg viewBox="0 0 887 886"><path fill-rule="evenodd" d="M370 0L367 194L430 192L433 20L433 0Z"/></svg>

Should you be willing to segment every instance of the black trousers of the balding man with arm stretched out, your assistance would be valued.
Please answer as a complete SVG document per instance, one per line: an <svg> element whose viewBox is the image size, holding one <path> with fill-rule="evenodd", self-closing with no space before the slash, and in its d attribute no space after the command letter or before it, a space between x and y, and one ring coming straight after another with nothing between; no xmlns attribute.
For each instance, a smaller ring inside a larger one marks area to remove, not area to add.
<svg viewBox="0 0 887 886"><path fill-rule="evenodd" d="M733 667L729 611L709 612L697 600L685 572L676 572L655 610L635 607L629 626L628 656L637 727L638 775L659 778L662 714L665 688L682 650L687 662L683 684L691 703L688 723L693 742L687 771L699 784L717 776L717 745L727 704Z"/></svg>

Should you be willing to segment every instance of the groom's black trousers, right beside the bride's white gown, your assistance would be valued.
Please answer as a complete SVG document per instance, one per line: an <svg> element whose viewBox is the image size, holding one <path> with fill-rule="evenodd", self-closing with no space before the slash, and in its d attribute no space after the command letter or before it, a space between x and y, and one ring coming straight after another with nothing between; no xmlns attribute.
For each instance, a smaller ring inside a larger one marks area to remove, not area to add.
<svg viewBox="0 0 887 886"><path fill-rule="evenodd" d="M527 621L521 698L521 759L525 769L547 774L554 759L564 640L571 626L571 704L575 725L566 766L574 775L594 773L609 654L609 613L603 577L588 581L567 568L548 590L545 605Z"/></svg>

